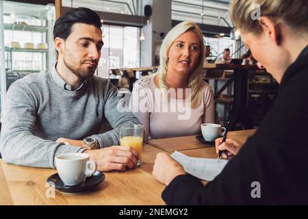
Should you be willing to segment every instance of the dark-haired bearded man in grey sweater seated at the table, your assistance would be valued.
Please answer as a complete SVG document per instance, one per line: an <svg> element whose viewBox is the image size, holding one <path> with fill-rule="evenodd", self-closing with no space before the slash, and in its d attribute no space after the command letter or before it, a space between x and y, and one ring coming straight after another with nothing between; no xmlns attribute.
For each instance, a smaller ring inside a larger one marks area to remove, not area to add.
<svg viewBox="0 0 308 219"><path fill-rule="evenodd" d="M3 159L54 168L57 155L89 153L98 170L133 168L136 151L112 145L119 145L120 125L140 123L130 112L118 112L112 83L93 76L103 47L101 19L88 8L75 8L55 22L53 37L55 66L27 75L8 90L1 130ZM102 133L106 119L114 129Z"/></svg>

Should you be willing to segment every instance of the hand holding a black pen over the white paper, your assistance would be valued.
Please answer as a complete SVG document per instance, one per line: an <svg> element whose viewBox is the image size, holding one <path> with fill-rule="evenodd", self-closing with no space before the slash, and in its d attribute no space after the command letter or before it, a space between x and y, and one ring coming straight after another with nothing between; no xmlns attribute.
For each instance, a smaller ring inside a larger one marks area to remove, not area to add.
<svg viewBox="0 0 308 219"><path fill-rule="evenodd" d="M222 138L217 138L215 140L217 154L219 153L219 151L224 151L224 150L228 151L228 153L222 153L222 158L224 159L228 159L231 158L233 155L237 155L242 145L243 145L242 142L239 142L233 138L227 138L226 141L223 143L222 143Z"/></svg>

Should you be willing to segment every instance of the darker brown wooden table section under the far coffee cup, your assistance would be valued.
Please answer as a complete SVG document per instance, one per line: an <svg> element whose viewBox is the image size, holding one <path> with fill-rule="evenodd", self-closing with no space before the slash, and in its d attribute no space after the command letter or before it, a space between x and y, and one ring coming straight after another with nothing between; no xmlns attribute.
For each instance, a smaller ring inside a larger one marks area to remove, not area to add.
<svg viewBox="0 0 308 219"><path fill-rule="evenodd" d="M243 131L229 131L228 137L235 138L240 142L246 142L248 136L252 136L256 129L248 129ZM213 148L214 146L209 146L202 144L196 140L196 136L185 136L177 138L161 138L149 140L149 144L162 149L169 153L175 151L191 150L191 149L204 149L207 147Z"/></svg>

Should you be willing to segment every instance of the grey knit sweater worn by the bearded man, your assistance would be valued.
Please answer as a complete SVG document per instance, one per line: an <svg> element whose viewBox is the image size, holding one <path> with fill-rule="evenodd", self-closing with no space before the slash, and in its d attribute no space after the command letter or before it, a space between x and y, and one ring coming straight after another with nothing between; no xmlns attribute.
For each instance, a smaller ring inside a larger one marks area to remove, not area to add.
<svg viewBox="0 0 308 219"><path fill-rule="evenodd" d="M93 136L101 147L119 145L118 126L140 124L131 112L117 110L118 90L107 79L91 77L77 91L53 81L49 70L27 75L10 86L5 99L0 151L5 162L54 168L54 157L84 151L58 138ZM106 119L114 128L103 133Z"/></svg>

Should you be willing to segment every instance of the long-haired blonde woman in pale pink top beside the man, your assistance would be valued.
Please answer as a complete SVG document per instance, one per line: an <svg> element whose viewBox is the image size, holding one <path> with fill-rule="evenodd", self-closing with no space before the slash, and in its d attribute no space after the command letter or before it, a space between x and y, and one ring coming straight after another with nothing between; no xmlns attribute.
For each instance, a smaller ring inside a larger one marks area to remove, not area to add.
<svg viewBox="0 0 308 219"><path fill-rule="evenodd" d="M146 137L199 133L202 123L214 123L213 92L201 79L205 47L199 27L179 23L164 38L159 56L157 74L136 81L131 110Z"/></svg>

